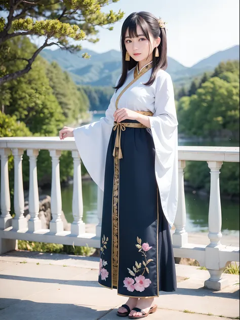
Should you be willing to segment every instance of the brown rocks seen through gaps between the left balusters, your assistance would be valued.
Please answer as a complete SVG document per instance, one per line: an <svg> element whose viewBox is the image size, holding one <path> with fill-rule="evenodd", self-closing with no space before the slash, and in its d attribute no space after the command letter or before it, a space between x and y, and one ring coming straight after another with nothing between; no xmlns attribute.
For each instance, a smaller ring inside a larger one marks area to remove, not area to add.
<svg viewBox="0 0 240 320"><path fill-rule="evenodd" d="M30 219L28 201L24 202L24 217L27 221ZM39 213L38 218L42 222L42 229L49 229L49 222L52 220L51 214L51 196L47 194L39 195ZM63 221L63 230L70 231L71 224L67 222L64 212L61 213L61 219Z"/></svg>

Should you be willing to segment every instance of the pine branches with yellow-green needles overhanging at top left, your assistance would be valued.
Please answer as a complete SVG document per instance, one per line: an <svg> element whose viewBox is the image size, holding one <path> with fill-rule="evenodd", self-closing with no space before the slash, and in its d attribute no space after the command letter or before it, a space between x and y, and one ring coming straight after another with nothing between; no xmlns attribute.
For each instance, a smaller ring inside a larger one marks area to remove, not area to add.
<svg viewBox="0 0 240 320"><path fill-rule="evenodd" d="M0 50L7 50L5 43L18 36L43 37L42 46L23 58L24 65L17 71L2 74L0 85L29 72L37 55L54 45L70 52L81 50L74 41L87 39L99 41L97 26L112 30L112 25L123 18L124 13L101 9L119 0L0 0L0 10L7 18L0 18ZM89 57L87 53L83 57Z"/></svg>

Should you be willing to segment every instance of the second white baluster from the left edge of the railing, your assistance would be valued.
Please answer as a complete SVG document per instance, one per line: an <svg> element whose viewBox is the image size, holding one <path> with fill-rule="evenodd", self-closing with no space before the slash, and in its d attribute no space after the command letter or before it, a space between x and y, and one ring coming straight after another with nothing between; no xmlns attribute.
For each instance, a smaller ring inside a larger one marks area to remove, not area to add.
<svg viewBox="0 0 240 320"><path fill-rule="evenodd" d="M27 220L24 217L24 192L22 180L22 155L24 150L14 148L14 212L15 217L12 220L14 231L27 228Z"/></svg>

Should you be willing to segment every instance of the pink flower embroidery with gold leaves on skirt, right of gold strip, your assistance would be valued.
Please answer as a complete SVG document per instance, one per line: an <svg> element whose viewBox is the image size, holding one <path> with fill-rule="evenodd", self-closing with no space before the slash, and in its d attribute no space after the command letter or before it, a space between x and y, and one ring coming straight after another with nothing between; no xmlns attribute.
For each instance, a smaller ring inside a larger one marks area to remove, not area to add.
<svg viewBox="0 0 240 320"><path fill-rule="evenodd" d="M134 279L130 277L126 277L124 279L124 287L126 287L127 290L131 292L133 292L134 290L142 292L145 290L145 288L149 287L149 285L151 284L151 280L145 278L143 274L145 271L149 273L149 269L147 265L153 260L152 259L147 260L146 252L150 250L152 247L150 247L148 243L142 244L142 240L138 236L137 236L136 247L139 249L138 252L142 253L142 256L145 258L145 261L142 261L140 263L135 261L135 266L133 266L132 270L130 268L127 268L129 273L132 276L134 276ZM143 270L143 272L141 270ZM136 276L138 272L142 272L142 274L140 274L139 276ZM134 283L134 280L136 281L136 283Z"/></svg>

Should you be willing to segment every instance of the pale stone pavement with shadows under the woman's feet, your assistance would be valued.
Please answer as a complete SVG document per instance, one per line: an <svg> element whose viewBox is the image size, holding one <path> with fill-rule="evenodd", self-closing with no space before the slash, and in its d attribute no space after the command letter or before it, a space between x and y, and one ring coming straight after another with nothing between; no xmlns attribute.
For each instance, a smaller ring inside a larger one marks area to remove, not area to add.
<svg viewBox="0 0 240 320"><path fill-rule="evenodd" d="M0 319L119 320L115 313L126 298L98 284L98 260L26 251L1 255ZM149 320L239 319L239 276L223 274L229 287L213 292L203 288L208 271L179 264L176 271L177 291L155 298L158 309Z"/></svg>

